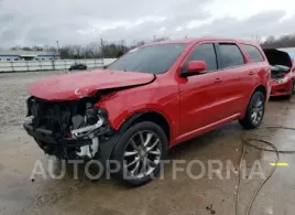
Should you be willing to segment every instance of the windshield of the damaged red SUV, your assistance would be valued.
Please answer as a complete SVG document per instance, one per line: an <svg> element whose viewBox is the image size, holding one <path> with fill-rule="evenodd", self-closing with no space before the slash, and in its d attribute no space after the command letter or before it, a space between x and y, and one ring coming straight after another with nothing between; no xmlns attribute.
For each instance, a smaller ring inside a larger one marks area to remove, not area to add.
<svg viewBox="0 0 295 215"><path fill-rule="evenodd" d="M111 64L108 69L130 71L151 74L167 72L186 44L161 44L131 50Z"/></svg>

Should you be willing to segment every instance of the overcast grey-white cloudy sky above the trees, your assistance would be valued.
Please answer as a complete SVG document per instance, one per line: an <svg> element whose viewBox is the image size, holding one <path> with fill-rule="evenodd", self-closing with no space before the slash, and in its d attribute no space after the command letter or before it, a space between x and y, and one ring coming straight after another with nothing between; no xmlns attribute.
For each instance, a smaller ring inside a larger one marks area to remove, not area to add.
<svg viewBox="0 0 295 215"><path fill-rule="evenodd" d="M0 0L0 47L295 33L294 0Z"/></svg>

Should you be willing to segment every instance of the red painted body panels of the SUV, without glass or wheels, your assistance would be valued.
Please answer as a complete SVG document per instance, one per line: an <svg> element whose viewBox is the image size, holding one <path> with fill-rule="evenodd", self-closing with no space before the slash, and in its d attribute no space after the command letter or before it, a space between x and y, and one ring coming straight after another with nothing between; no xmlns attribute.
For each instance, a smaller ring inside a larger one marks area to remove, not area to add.
<svg viewBox="0 0 295 215"><path fill-rule="evenodd" d="M190 52L201 43L237 43L244 54L245 65L218 72L181 77L181 67ZM132 115L141 111L161 114L171 129L170 147L212 130L223 123L243 117L249 99L258 86L270 95L270 65L267 61L253 63L240 43L249 42L219 39L189 39L164 41L187 43L185 51L164 74L153 75L129 72L92 72L55 76L34 84L29 93L44 99L78 99L75 89L83 96L88 92L149 83L148 85L118 90L100 99L96 106L106 109L109 122L114 129ZM254 43L251 43L255 45ZM259 47L262 52L262 50ZM263 53L263 52L262 52ZM264 58L266 58L264 56ZM45 85L45 86L44 86Z"/></svg>

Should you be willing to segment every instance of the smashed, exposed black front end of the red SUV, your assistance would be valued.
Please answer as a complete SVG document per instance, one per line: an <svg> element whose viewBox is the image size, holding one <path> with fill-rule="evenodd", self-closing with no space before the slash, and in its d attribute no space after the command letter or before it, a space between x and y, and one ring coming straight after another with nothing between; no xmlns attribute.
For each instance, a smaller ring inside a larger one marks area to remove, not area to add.
<svg viewBox="0 0 295 215"><path fill-rule="evenodd" d="M41 149L58 159L94 159L101 155L101 144L114 130L107 112L95 107L99 97L79 100L51 101L36 97L28 99L28 119L23 127ZM109 157L111 148L107 150Z"/></svg>

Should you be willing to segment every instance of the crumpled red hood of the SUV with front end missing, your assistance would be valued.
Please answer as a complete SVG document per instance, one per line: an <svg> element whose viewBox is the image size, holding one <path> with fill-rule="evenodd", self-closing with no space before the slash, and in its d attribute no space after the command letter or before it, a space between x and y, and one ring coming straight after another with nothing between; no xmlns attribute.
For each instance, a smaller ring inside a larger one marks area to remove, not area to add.
<svg viewBox="0 0 295 215"><path fill-rule="evenodd" d="M31 85L28 93L46 100L76 100L100 89L149 84L154 75L136 72L92 71L55 75Z"/></svg>

